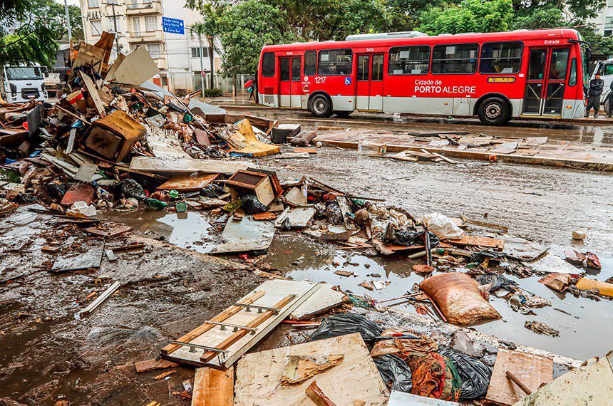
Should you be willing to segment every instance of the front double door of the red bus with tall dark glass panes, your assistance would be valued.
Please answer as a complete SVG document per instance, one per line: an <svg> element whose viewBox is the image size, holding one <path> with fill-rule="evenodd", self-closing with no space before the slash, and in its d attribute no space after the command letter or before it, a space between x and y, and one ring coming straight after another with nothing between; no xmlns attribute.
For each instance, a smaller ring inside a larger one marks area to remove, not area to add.
<svg viewBox="0 0 613 406"><path fill-rule="evenodd" d="M570 48L531 48L522 113L562 115Z"/></svg>

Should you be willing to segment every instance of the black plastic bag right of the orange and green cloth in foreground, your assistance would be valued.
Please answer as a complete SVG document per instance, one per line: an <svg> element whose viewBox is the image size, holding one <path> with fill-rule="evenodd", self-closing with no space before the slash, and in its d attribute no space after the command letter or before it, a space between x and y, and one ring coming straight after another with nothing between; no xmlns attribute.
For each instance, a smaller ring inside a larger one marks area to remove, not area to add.
<svg viewBox="0 0 613 406"><path fill-rule="evenodd" d="M473 400L485 396L492 378L492 368L477 358L473 358L451 348L439 348L438 353L449 358L462 378L460 400Z"/></svg>

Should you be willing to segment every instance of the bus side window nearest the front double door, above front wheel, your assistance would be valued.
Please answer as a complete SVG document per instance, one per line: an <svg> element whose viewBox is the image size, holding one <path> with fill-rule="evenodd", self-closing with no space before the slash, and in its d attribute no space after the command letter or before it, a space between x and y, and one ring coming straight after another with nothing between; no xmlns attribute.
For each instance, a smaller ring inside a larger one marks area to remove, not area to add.
<svg viewBox="0 0 613 406"><path fill-rule="evenodd" d="M523 44L490 42L481 47L480 73L517 73L522 66Z"/></svg>

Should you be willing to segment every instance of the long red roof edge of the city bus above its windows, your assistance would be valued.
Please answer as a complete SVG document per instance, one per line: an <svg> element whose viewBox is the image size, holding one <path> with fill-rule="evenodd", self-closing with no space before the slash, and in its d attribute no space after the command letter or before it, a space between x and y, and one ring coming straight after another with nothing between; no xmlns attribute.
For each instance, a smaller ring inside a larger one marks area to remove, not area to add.
<svg viewBox="0 0 613 406"><path fill-rule="evenodd" d="M486 36L487 39L483 38ZM420 36L414 38L381 38L362 41L323 41L295 42L280 45L267 45L262 52L270 51L308 51L311 49L362 48L368 46L403 46L432 43L463 43L485 41L529 41L547 38L579 39L579 33L571 28L543 30L516 30L501 33L458 33L440 34L438 36Z"/></svg>

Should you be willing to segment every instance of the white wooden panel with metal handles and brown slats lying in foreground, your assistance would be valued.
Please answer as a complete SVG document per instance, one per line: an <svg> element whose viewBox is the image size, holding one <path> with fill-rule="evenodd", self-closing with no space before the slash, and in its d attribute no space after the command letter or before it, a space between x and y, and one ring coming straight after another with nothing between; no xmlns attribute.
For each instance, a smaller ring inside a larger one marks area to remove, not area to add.
<svg viewBox="0 0 613 406"><path fill-rule="evenodd" d="M220 369L227 368L235 363L241 355L249 350L249 348L252 348L259 340L262 340L262 338L273 328L278 326L281 321L289 316L289 313L292 313L295 308L306 301L306 299L315 293L318 288L318 284L307 281L286 281L280 279L266 281L257 287L257 291L264 291L265 294L262 298L252 303L255 306L274 307L289 294L294 294L296 297L287 303L287 306L284 306L279 314L267 318L259 324L259 326L255 327L256 330L254 334L249 333L242 336L239 340L236 340L235 343L232 343L225 349L227 351L226 353L212 358L207 363L202 362L200 359L203 353L208 352L207 350L195 348L195 351L190 352L190 347L186 345L180 345L180 348L172 351L172 353L163 355L163 358L187 365L209 366ZM260 314L257 313L257 309L252 309L252 311L247 312L246 309L243 308L242 311L226 318L224 323L235 324L237 326L249 326L249 323L252 323L254 318L258 317ZM192 340L189 340L189 343L215 348L234 334L235 332L232 328L225 328L222 330L222 326L215 326L207 330L206 333L197 335ZM186 340L181 340L181 342L185 341Z"/></svg>

